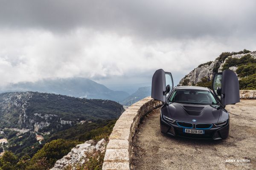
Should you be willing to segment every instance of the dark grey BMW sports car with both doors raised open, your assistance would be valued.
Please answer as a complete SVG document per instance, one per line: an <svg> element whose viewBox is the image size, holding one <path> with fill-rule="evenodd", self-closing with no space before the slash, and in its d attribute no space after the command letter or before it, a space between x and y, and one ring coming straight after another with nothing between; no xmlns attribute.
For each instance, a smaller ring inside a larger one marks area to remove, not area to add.
<svg viewBox="0 0 256 170"><path fill-rule="evenodd" d="M151 97L163 102L161 132L198 139L226 139L230 124L225 105L240 102L238 77L231 70L215 74L212 89L173 88L172 74L157 70L152 77Z"/></svg>

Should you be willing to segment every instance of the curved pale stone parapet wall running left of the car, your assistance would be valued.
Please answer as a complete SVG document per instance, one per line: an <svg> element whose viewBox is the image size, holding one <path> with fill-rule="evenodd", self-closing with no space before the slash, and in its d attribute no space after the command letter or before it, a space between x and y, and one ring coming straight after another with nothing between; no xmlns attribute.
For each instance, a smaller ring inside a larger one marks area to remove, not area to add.
<svg viewBox="0 0 256 170"><path fill-rule="evenodd" d="M147 113L161 105L146 97L122 113L109 137L102 170L130 170L131 142L137 127Z"/></svg>

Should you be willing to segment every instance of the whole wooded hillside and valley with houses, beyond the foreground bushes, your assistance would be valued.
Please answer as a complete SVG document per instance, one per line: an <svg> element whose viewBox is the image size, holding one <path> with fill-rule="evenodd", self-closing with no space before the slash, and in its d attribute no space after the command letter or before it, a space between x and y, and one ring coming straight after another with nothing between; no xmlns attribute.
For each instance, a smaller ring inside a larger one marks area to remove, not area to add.
<svg viewBox="0 0 256 170"><path fill-rule="evenodd" d="M123 112L117 102L38 92L0 94L0 154L33 156L54 139L84 142L110 133ZM74 135L76 134L76 135Z"/></svg>

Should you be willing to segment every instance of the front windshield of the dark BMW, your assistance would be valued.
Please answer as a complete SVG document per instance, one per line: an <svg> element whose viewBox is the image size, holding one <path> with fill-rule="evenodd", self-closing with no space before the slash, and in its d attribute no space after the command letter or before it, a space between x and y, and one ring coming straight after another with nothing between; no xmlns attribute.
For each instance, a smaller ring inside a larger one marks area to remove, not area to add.
<svg viewBox="0 0 256 170"><path fill-rule="evenodd" d="M169 101L197 105L217 104L217 101L212 93L204 90L176 90L173 92Z"/></svg>

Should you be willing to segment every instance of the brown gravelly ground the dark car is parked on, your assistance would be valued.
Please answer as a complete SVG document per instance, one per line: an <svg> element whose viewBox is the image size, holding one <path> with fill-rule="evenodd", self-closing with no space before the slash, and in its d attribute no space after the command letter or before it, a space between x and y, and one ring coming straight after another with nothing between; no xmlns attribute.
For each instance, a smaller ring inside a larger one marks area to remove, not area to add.
<svg viewBox="0 0 256 170"><path fill-rule="evenodd" d="M230 136L225 140L188 139L160 132L160 109L145 117L132 143L132 170L256 170L256 100L226 107ZM227 159L250 163L226 164Z"/></svg>

